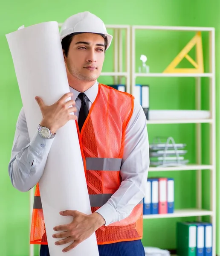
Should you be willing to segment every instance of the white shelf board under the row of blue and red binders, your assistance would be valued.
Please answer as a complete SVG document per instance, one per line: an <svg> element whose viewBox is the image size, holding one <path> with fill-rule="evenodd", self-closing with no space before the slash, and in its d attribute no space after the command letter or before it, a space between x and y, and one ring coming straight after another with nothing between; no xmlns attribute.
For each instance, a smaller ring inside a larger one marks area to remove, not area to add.
<svg viewBox="0 0 220 256"><path fill-rule="evenodd" d="M177 217L192 217L192 216L211 216L212 211L200 210L200 209L177 209L174 213L169 214L149 214L143 215L144 219L152 218L177 218Z"/></svg>

